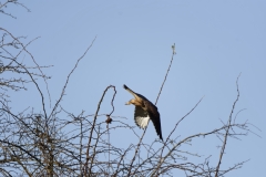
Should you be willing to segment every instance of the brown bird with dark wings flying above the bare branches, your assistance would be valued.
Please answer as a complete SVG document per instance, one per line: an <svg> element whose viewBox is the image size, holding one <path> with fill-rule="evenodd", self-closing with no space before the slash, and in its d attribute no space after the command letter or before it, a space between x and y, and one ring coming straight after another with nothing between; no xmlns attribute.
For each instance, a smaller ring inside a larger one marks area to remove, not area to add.
<svg viewBox="0 0 266 177"><path fill-rule="evenodd" d="M163 140L160 113L157 111L157 107L153 103L151 103L146 97L139 93L133 92L126 85L124 85L124 88L134 96L134 98L126 102L125 105L130 104L135 105L134 118L136 125L141 128L145 128L151 118L158 137Z"/></svg>

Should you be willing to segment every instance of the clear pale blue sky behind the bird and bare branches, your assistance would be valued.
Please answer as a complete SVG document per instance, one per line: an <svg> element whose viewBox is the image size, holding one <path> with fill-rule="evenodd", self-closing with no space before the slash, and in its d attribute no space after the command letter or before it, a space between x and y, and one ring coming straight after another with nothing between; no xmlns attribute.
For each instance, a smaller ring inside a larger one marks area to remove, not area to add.
<svg viewBox="0 0 266 177"><path fill-rule="evenodd" d="M250 159L228 177L265 175L266 158L266 1L264 0L147 0L147 1L23 1L31 12L10 7L18 19L0 17L1 27L27 40L41 37L29 46L45 70L52 103L55 103L66 74L92 40L96 40L72 75L64 97L64 108L74 114L82 110L94 114L104 88L116 86L115 112L134 125L133 106L124 103L131 95L126 84L155 102L175 43L176 55L157 103L163 136L205 95L200 106L178 127L175 136L185 137L212 131L226 122L236 98L239 77L241 98L236 111L262 132L242 140L229 139L222 167ZM24 59L27 60L27 59ZM27 62L27 61L25 61ZM45 92L45 88L43 87ZM29 95L31 95L29 97ZM101 113L110 113L110 96ZM13 93L13 108L41 106L33 90ZM19 98L19 100L18 100ZM24 100L28 100L27 104ZM21 107L22 105L22 107ZM24 107L23 107L24 106ZM100 114L101 114L100 113ZM141 129L136 129L142 134ZM123 143L136 143L135 136L117 133ZM149 125L145 138L156 138ZM190 147L195 153L213 155L221 145L217 138L200 138ZM185 148L185 147L184 147Z"/></svg>

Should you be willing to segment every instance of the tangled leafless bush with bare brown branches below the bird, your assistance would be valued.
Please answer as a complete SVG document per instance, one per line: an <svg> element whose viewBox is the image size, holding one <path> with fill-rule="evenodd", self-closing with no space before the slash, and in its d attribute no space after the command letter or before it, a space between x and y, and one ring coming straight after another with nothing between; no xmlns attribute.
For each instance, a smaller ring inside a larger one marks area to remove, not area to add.
<svg viewBox="0 0 266 177"><path fill-rule="evenodd" d="M7 3L18 3L17 1L7 1L0 4L0 10L4 14L3 7ZM19 3L20 4L20 3ZM11 14L10 14L11 15ZM43 90L48 92L48 82L50 79L43 72L45 67L40 66L33 55L27 50L32 41L23 44L23 37L13 37L8 30L0 28L0 173L2 176L172 176L174 169L184 171L185 176L224 176L233 169L238 169L245 162L237 163L229 168L222 169L221 163L227 145L227 139L233 137L246 136L249 131L248 123L237 123L234 116L235 105L239 98L238 77L236 81L237 95L233 103L228 121L221 127L215 127L205 133L198 133L181 139L174 134L177 126L184 121L202 102L202 98L192 110L181 117L165 142L155 139L152 144L143 142L145 131L140 137L137 144L131 144L127 148L110 143L112 132L123 131L135 134L133 126L130 126L120 118L112 118L114 112L113 101L116 90L114 85L106 86L99 101L93 115L84 115L84 111L74 115L61 106L65 88L72 73L76 70L79 62L86 52L76 60L75 65L65 79L62 92L59 95L50 112L47 110ZM33 66L23 64L22 53L27 54ZM160 94L163 91L167 79L173 55L168 70L162 83ZM47 87L41 87L37 79L42 79ZM27 84L33 84L40 94L42 111L35 112L34 107L12 112L8 91L27 90ZM110 100L111 113L100 115L102 101L106 92L112 92ZM48 98L51 100L50 96ZM155 104L156 104L155 103ZM51 104L51 101L50 101ZM100 118L100 117L104 117ZM111 126L116 122L115 126ZM137 135L136 135L137 136ZM211 162L209 156L203 158L192 152L183 152L185 144L192 144L192 140L198 137L216 136L222 142L218 162ZM145 156L140 156L140 152ZM190 156L198 157L202 162L194 163ZM108 157L108 158L106 158Z"/></svg>

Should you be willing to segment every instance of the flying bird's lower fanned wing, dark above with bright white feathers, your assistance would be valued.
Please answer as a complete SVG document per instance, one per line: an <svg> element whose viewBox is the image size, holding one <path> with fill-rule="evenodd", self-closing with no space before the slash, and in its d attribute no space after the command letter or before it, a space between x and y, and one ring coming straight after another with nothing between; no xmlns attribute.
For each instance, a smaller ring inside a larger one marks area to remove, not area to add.
<svg viewBox="0 0 266 177"><path fill-rule="evenodd" d="M136 125L140 128L145 128L147 126L150 116L149 116L147 112L144 111L142 107L135 106L134 119L135 119Z"/></svg>

